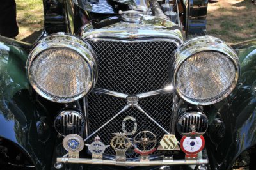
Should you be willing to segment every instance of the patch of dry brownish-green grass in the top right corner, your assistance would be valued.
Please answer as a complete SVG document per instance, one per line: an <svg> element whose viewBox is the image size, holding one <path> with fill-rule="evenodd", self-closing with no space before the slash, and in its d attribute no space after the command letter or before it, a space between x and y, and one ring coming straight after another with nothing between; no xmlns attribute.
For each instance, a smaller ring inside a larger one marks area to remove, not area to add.
<svg viewBox="0 0 256 170"><path fill-rule="evenodd" d="M256 6L246 0L219 0L209 4L207 33L229 43L256 38Z"/></svg>

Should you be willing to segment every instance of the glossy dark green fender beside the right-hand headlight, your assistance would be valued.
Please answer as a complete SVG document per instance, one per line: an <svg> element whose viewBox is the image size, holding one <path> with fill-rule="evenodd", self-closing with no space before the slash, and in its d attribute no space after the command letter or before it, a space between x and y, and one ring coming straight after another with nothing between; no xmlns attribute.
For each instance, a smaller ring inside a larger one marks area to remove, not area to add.
<svg viewBox="0 0 256 170"><path fill-rule="evenodd" d="M207 114L210 122L218 117L225 123L222 139L216 138L217 127L210 125L208 130L206 147L212 169L230 169L243 151L256 145L256 40L232 47L241 62L239 83L228 98L211 105Z"/></svg>

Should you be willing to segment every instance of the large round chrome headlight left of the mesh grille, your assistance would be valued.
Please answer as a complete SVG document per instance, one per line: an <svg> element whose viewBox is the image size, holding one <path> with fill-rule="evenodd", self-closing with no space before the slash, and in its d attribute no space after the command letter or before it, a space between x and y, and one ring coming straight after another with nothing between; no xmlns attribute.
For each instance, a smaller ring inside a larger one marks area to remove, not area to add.
<svg viewBox="0 0 256 170"><path fill-rule="evenodd" d="M92 47L65 33L47 36L36 43L29 54L27 71L39 95L60 103L83 97L97 79Z"/></svg>

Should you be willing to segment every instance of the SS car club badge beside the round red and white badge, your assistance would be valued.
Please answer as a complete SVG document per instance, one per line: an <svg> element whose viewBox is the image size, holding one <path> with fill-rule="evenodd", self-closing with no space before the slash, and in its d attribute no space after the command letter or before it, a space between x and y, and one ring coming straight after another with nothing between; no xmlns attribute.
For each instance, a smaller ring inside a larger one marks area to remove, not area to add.
<svg viewBox="0 0 256 170"><path fill-rule="evenodd" d="M177 141L175 135L164 135L160 145L157 147L157 151L164 155L176 155L180 150L178 143L179 141Z"/></svg>

